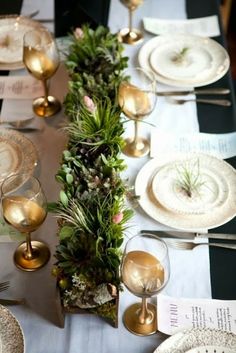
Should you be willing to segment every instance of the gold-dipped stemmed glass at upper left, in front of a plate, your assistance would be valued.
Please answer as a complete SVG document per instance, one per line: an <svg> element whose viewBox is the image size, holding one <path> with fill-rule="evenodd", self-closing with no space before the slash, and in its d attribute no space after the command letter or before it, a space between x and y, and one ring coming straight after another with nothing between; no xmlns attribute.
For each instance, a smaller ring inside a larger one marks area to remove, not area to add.
<svg viewBox="0 0 236 353"><path fill-rule="evenodd" d="M49 117L61 109L60 102L48 94L48 79L58 69L60 59L55 40L46 29L37 29L25 33L23 62L31 75L41 80L44 87L44 97L36 98L33 111L41 117Z"/></svg>

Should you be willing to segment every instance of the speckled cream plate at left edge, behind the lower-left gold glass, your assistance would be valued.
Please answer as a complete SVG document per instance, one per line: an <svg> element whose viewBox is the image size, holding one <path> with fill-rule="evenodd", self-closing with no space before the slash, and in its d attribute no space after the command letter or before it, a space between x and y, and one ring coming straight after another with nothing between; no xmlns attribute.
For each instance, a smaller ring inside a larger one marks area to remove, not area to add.
<svg viewBox="0 0 236 353"><path fill-rule="evenodd" d="M0 183L9 175L31 175L38 161L34 144L23 134L0 129Z"/></svg>

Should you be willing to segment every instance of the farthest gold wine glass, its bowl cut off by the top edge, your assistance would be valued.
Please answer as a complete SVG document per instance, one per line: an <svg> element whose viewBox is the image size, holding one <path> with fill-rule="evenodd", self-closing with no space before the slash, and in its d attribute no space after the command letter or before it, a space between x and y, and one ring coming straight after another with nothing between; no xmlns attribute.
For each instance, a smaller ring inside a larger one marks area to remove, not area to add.
<svg viewBox="0 0 236 353"><path fill-rule="evenodd" d="M129 27L120 30L118 37L122 43L137 44L143 40L143 34L136 28L133 28L133 12L143 3L143 0L120 0L129 10Z"/></svg>

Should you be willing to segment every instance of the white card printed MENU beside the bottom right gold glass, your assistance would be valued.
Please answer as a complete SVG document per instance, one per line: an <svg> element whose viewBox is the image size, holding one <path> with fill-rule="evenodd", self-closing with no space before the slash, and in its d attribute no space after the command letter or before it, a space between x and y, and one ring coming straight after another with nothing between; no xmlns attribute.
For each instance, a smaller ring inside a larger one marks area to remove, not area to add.
<svg viewBox="0 0 236 353"><path fill-rule="evenodd" d="M236 334L236 300L183 299L160 294L157 306L158 330L168 335L190 328Z"/></svg>

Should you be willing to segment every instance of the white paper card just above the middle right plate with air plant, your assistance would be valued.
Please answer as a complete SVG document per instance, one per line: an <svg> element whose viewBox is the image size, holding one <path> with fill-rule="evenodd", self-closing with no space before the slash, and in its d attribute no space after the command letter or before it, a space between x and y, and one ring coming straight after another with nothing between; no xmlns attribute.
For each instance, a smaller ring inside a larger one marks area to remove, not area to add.
<svg viewBox="0 0 236 353"><path fill-rule="evenodd" d="M236 156L236 132L226 134L169 134L153 129L151 132L151 157L166 152L202 152L226 159Z"/></svg>

